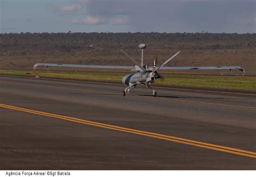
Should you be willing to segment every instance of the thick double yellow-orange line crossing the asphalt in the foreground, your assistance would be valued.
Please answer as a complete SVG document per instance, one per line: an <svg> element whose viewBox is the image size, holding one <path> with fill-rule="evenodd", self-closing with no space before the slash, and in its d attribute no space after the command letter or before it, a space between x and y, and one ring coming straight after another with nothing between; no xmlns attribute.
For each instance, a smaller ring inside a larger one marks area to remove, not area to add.
<svg viewBox="0 0 256 177"><path fill-rule="evenodd" d="M107 128L107 129L110 129L110 130L132 133L132 134L138 134L138 135L143 135L143 136L146 136L146 137L152 137L152 138L163 139L163 140L172 141L172 142L178 142L180 144L197 146L197 147L212 149L212 150L215 150L215 151L221 151L221 152L226 152L226 153L231 153L231 154L236 154L236 155L247 156L247 157L250 157L250 158L256 158L256 152L246 151L246 150L243 150L243 149L237 149L237 148L232 148L232 147L214 145L214 144L209 144L209 143L206 143L206 142L194 141L194 140L189 140L189 139L184 139L184 138L172 137L172 136L165 135L165 134L134 130L134 129L131 129L131 128L126 128L126 127L114 126L114 125L109 125L109 124L102 124L102 123L99 123L99 122L94 122L94 121L89 121L89 120L84 120L84 119L78 119L78 118L73 118L73 117L67 117L67 116L58 115L58 114L51 114L51 113L46 113L46 112L41 112L41 111L29 110L29 109L26 109L26 108L15 107L15 106L11 106L11 105L0 104L0 107L7 108L7 109L10 109L10 110L22 111L22 112L27 112L27 113L37 114L37 115L44 115L46 117L52 117L52 118L77 122L79 124L92 125L92 126Z"/></svg>

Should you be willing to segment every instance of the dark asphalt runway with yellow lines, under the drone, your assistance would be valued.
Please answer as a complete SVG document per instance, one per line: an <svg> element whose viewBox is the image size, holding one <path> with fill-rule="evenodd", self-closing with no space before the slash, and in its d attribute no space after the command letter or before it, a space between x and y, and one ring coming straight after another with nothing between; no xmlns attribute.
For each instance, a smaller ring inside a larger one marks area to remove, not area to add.
<svg viewBox="0 0 256 177"><path fill-rule="evenodd" d="M0 169L256 169L256 95L0 76Z"/></svg>

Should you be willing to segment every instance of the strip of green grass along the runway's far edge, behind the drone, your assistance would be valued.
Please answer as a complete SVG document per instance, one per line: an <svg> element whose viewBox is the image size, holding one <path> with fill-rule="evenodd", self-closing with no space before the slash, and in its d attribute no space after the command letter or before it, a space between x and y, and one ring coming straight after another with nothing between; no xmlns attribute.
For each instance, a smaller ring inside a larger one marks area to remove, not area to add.
<svg viewBox="0 0 256 177"><path fill-rule="evenodd" d="M31 74L26 74L31 73ZM72 71L16 71L0 70L0 74L11 76L29 76L47 78L65 78L91 81L110 81L122 83L126 73L120 72L72 72ZM200 76L200 75L177 75L161 74L164 79L157 79L157 85L165 86L192 86L205 88L224 88L234 90L256 91L256 78L246 76Z"/></svg>

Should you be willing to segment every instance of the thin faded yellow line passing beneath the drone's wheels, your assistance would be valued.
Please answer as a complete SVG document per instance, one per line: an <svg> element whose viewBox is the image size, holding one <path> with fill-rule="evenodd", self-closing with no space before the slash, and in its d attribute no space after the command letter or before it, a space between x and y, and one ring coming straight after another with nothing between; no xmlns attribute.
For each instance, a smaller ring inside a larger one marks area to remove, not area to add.
<svg viewBox="0 0 256 177"><path fill-rule="evenodd" d="M59 86L48 86L48 85L24 84L24 83L15 83L15 82L9 82L9 81L0 81L0 83L1 82L2 83L9 83L9 84L30 85L30 86L39 86L39 87L51 87L51 88L64 88L64 89L69 89L69 90L79 90L79 91L88 91L88 92L109 93L109 94L123 95L121 93L96 91L96 90L86 90L86 89L82 89L82 88L70 88L70 87L59 87ZM131 96L132 97L143 97L143 96L136 96L136 95L131 95ZM231 106L231 107L256 109L256 107L251 107L251 106L228 105L228 104L221 104L221 103L211 103L211 102L193 101L193 100L185 100L185 99L160 98L160 97L144 97L144 98L149 98L149 99L165 99L165 100L183 101L183 102L190 102L190 103L200 103L200 104L210 104L210 105L218 105L218 106Z"/></svg>

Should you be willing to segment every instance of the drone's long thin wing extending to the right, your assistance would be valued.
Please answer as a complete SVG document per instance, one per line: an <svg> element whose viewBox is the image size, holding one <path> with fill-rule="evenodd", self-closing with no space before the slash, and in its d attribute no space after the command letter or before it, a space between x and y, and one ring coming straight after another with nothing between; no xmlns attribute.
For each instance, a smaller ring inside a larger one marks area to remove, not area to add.
<svg viewBox="0 0 256 177"><path fill-rule="evenodd" d="M161 67L161 70L240 70L245 72L240 66L185 66L185 67Z"/></svg>

